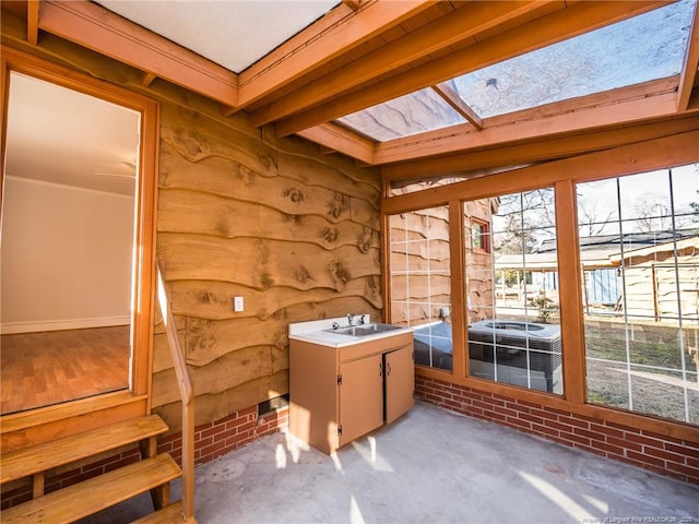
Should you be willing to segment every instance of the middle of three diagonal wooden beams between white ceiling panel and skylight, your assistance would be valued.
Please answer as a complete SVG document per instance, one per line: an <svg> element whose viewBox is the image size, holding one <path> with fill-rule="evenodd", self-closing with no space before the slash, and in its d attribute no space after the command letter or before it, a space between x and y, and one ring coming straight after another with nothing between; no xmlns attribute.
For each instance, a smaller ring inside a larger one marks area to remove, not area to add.
<svg viewBox="0 0 699 524"><path fill-rule="evenodd" d="M253 126L270 123L381 74L541 8L541 1L474 2L390 43L277 100L256 110Z"/></svg>

